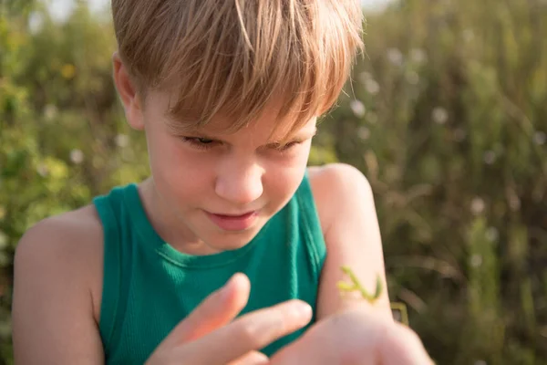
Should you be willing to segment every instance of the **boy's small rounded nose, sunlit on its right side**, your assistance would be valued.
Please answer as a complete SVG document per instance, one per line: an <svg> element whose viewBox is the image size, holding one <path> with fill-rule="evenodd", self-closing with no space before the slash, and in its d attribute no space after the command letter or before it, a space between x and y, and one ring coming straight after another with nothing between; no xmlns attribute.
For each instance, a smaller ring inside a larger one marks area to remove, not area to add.
<svg viewBox="0 0 547 365"><path fill-rule="evenodd" d="M217 175L215 192L236 206L253 203L263 194L263 168L252 162L228 163Z"/></svg>

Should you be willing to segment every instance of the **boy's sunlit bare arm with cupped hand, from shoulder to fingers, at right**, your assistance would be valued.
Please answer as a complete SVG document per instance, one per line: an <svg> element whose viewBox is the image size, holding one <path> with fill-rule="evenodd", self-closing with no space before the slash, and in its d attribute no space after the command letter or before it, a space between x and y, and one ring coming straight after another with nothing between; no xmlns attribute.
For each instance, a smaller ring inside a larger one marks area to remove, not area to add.
<svg viewBox="0 0 547 365"><path fill-rule="evenodd" d="M365 177L342 164L310 172L327 251L317 300L319 321L275 353L270 363L433 365L418 335L391 316L377 214ZM340 296L336 283L345 279L341 266L351 267L368 292L380 277L384 291L374 306L358 293Z"/></svg>

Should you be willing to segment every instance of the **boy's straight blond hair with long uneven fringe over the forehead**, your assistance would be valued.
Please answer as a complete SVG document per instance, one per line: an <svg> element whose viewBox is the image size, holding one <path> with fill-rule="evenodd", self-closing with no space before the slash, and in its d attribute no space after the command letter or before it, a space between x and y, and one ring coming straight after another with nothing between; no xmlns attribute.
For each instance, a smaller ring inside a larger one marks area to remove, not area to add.
<svg viewBox="0 0 547 365"><path fill-rule="evenodd" d="M170 91L177 128L222 113L239 130L275 102L296 130L335 104L363 47L358 0L112 0L112 13L140 97Z"/></svg>

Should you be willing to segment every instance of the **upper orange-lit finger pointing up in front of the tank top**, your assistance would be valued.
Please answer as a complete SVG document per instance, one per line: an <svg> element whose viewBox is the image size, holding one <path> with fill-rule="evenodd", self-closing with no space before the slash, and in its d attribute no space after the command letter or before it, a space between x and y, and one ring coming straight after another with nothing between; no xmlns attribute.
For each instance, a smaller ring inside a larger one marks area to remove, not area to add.
<svg viewBox="0 0 547 365"><path fill-rule="evenodd" d="M216 328L230 323L249 299L251 284L249 278L238 273L219 290L206 297L191 314L181 321L165 342L176 346L183 342L199 339Z"/></svg>

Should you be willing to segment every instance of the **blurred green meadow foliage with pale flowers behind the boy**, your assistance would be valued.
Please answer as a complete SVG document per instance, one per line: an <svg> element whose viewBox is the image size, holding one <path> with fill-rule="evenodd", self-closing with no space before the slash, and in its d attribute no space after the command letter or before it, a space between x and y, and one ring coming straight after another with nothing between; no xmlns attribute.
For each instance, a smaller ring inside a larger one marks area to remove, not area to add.
<svg viewBox="0 0 547 365"><path fill-rule="evenodd" d="M110 19L0 3L0 352L13 253L47 215L149 172ZM406 0L367 15L366 57L311 163L377 198L391 299L439 364L547 363L547 2Z"/></svg>

